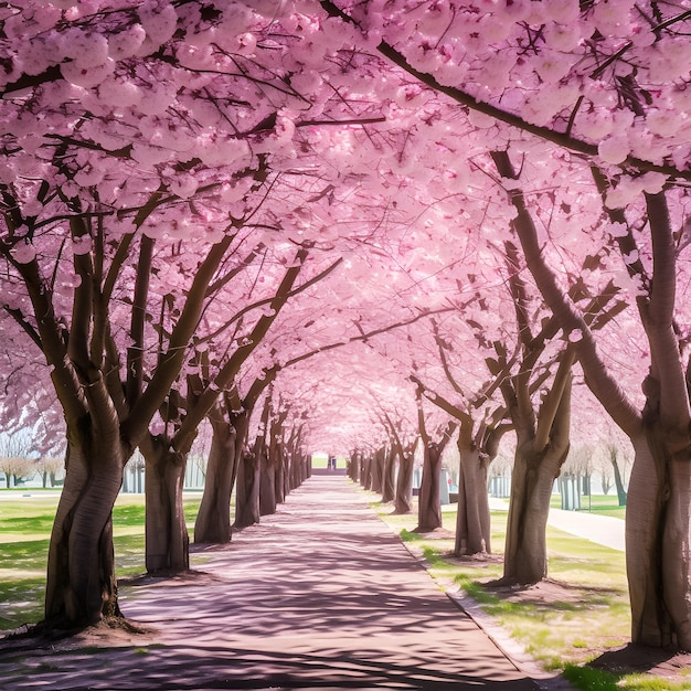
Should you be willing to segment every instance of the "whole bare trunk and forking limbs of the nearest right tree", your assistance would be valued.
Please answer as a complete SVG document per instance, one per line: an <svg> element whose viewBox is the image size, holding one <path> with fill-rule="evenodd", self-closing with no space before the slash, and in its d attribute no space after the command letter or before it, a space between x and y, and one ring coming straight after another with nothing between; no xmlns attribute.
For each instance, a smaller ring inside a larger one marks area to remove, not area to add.
<svg viewBox="0 0 691 691"><path fill-rule="evenodd" d="M492 155L503 178L517 179L506 152ZM604 196L608 182L594 170ZM528 267L565 332L578 330L575 343L588 387L631 439L634 467L627 497L626 562L631 603L631 640L653 647L691 649L691 458L689 381L674 325L677 240L666 192L645 194L652 238L653 276L638 261L629 274L645 288L636 305L650 347L650 372L644 380L646 405L635 408L606 369L592 330L560 288L542 255L538 233L519 189L511 190L518 215L513 227ZM623 253L637 251L624 209L605 210L627 228L618 237ZM688 366L688 365L687 365ZM662 553L660 552L662 550Z"/></svg>

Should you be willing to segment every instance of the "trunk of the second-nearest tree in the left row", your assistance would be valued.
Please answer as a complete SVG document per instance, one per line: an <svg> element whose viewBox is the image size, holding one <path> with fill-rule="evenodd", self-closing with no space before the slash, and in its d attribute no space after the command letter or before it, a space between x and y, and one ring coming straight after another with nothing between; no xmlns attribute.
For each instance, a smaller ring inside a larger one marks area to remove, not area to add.
<svg viewBox="0 0 691 691"><path fill-rule="evenodd" d="M190 567L190 535L182 504L187 454L171 450L163 436L149 436L139 448L147 478L147 572L185 571Z"/></svg>

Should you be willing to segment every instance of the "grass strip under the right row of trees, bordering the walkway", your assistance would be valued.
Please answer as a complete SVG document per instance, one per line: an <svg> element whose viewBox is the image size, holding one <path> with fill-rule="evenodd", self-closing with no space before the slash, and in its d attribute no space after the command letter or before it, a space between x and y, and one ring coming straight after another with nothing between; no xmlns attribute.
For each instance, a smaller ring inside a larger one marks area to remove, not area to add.
<svg viewBox="0 0 691 691"><path fill-rule="evenodd" d="M613 673L588 665L630 640L623 552L548 527L548 581L530 588L493 591L486 584L502 574L507 511L492 511L491 555L457 559L453 556L456 504L443 507L443 529L418 534L413 532L415 507L408 514L393 514L393 506L382 504L379 495L361 491L439 587L536 679L540 671L561 673L583 691L691 691L691 670L672 680L653 673Z"/></svg>

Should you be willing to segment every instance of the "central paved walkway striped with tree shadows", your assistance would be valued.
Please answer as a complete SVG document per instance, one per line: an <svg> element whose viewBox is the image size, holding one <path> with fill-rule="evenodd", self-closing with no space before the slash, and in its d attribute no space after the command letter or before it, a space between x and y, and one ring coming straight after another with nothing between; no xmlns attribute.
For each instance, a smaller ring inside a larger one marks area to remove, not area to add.
<svg viewBox="0 0 691 691"><path fill-rule="evenodd" d="M7 691L533 691L344 478L312 477L195 572L121 589L150 641L0 651ZM203 561L205 560L205 561Z"/></svg>

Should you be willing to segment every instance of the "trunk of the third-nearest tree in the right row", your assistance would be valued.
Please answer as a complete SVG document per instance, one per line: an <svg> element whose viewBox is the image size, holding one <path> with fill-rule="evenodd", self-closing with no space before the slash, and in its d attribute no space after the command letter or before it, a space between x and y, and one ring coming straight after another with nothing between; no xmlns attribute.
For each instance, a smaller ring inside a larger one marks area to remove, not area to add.
<svg viewBox="0 0 691 691"><path fill-rule="evenodd" d="M458 512L454 554L490 554L490 512L487 495L489 458L474 443L458 438L460 468L458 474Z"/></svg>

